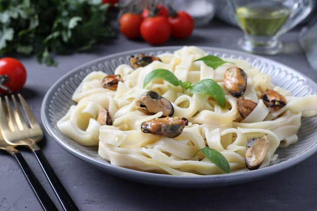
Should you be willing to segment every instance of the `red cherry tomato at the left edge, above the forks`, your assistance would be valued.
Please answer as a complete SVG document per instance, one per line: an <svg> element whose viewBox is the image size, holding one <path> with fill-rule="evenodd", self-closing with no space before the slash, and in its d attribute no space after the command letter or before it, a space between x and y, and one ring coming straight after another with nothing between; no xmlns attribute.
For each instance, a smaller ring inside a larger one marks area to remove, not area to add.
<svg viewBox="0 0 317 211"><path fill-rule="evenodd" d="M12 93L22 89L26 80L26 71L21 62L14 58L5 57L0 59L0 83L9 88ZM0 88L0 93L10 92Z"/></svg>

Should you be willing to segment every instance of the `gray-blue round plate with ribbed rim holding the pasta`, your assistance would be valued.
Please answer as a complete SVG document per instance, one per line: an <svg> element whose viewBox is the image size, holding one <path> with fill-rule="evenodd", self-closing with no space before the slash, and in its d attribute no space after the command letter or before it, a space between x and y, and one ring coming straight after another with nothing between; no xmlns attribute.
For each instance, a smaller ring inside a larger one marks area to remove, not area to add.
<svg viewBox="0 0 317 211"><path fill-rule="evenodd" d="M58 130L56 122L66 114L71 105L75 104L71 100L71 96L83 78L90 72L101 70L112 74L118 65L129 64L131 55L138 53L150 55L165 52L172 53L180 48L182 47L160 47L127 51L106 56L73 69L54 83L43 100L41 116L46 130L66 151L106 173L141 183L172 187L213 187L252 181L285 170L317 151L317 117L302 118L298 141L288 148L276 150L279 158L271 162L268 167L260 168L256 171L232 174L185 177L139 172L111 165L99 156L97 152L98 146L82 146ZM215 56L248 60L252 66L259 67L261 72L269 74L274 85L290 90L292 96L302 97L316 93L316 83L281 63L238 51L208 47L200 48Z"/></svg>

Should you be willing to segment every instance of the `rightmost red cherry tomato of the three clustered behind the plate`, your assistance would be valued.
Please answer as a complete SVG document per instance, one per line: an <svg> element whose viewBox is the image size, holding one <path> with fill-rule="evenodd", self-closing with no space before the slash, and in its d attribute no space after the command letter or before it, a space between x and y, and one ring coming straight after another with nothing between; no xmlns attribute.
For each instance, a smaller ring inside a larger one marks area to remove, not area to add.
<svg viewBox="0 0 317 211"><path fill-rule="evenodd" d="M169 17L172 26L172 36L178 39L188 37L194 29L194 21L184 11L178 11L175 17Z"/></svg>

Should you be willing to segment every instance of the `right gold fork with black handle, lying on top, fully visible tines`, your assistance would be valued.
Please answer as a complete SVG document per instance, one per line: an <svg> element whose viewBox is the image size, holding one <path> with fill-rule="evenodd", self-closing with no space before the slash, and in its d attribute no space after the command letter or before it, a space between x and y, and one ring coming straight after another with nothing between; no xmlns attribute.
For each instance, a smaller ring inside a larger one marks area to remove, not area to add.
<svg viewBox="0 0 317 211"><path fill-rule="evenodd" d="M0 121L1 131L4 139L8 144L13 146L27 146L36 156L37 161L42 167L48 181L50 182L55 194L57 195L64 210L78 210L75 203L70 198L69 194L59 181L58 177L53 171L50 163L44 156L43 152L37 146L37 142L41 141L44 137L41 126L39 126L32 110L26 103L22 95L18 94L24 113L28 119L30 127L24 120L24 117L19 108L18 102L14 95L11 96L16 112L13 112L9 97L5 96L8 116L6 117L2 100L0 102Z"/></svg>

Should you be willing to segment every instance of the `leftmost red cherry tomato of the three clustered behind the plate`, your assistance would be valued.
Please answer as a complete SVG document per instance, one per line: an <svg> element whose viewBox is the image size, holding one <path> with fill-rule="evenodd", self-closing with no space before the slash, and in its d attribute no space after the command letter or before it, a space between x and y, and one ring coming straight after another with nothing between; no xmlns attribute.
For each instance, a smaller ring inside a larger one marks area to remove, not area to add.
<svg viewBox="0 0 317 211"><path fill-rule="evenodd" d="M120 31L128 38L135 39L140 36L140 25L142 18L138 14L125 13L121 16L119 24Z"/></svg>

